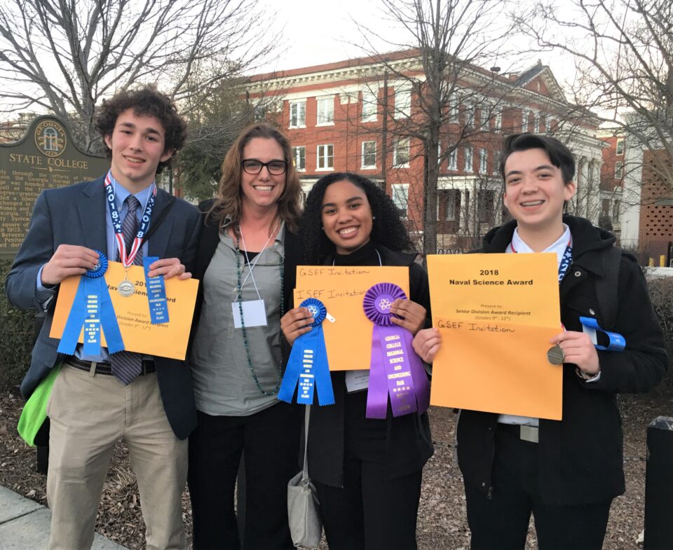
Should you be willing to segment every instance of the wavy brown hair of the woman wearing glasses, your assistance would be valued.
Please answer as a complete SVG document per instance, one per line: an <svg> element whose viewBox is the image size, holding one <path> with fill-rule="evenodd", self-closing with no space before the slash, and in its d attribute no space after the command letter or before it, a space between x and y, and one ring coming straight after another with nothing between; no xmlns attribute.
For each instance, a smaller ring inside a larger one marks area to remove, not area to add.
<svg viewBox="0 0 673 550"><path fill-rule="evenodd" d="M219 180L217 196L212 207L208 211L208 218L218 221L219 227L224 228L224 220L229 217L232 224L240 221L241 209L241 177L243 170L241 160L243 160L243 149L256 137L262 139L273 139L280 149L283 149L283 157L287 163L285 170L285 189L278 198L278 217L285 221L287 227L293 233L297 231L297 220L301 214L301 185L297 170L294 169L292 162L292 151L290 141L276 128L267 123L256 123L248 126L238 135L229 151L227 151L222 163L222 179ZM235 227L235 225L234 225Z"/></svg>

